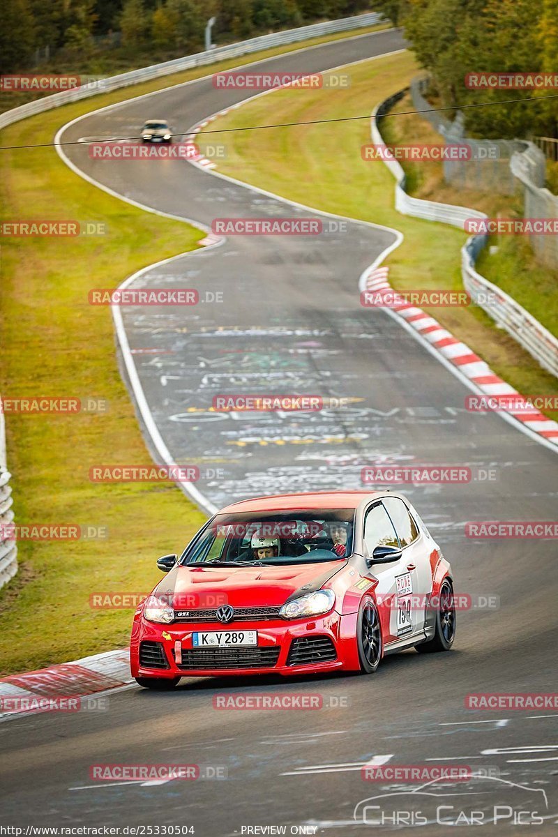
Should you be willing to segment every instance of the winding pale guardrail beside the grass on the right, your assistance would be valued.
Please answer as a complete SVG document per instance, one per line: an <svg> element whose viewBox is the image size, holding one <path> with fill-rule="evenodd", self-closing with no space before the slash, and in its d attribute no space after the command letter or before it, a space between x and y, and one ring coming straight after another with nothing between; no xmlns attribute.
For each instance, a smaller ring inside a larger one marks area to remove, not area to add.
<svg viewBox="0 0 558 837"><path fill-rule="evenodd" d="M375 145L385 145L378 123L387 110L406 93L402 90L396 95L377 105L372 113L371 139ZM517 155L521 157L521 155ZM423 218L427 221L450 223L464 229L467 218L486 218L484 213L466 207L452 206L449 203L435 203L420 198L412 198L405 191L405 172L397 160L387 160L387 167L396 178L395 204L398 212ZM516 166L519 163L516 162ZM468 239L461 250L461 273L463 286L471 299L491 316L499 326L508 331L514 340L520 343L542 367L558 376L558 340L545 329L529 311L520 306L511 296L505 294L497 285L484 279L474 270L474 264L487 241L486 235L475 235Z"/></svg>

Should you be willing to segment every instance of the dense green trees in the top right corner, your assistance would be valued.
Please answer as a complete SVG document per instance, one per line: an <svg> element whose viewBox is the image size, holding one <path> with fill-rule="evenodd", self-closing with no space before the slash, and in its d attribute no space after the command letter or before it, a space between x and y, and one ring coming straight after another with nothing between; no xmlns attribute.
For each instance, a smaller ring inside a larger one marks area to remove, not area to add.
<svg viewBox="0 0 558 837"><path fill-rule="evenodd" d="M377 0L377 11L402 26L422 67L432 76L431 95L442 107L494 103L463 110L474 136L558 136L558 95L538 90L468 89L479 72L548 72L558 77L558 0ZM534 102L499 105L535 96Z"/></svg>

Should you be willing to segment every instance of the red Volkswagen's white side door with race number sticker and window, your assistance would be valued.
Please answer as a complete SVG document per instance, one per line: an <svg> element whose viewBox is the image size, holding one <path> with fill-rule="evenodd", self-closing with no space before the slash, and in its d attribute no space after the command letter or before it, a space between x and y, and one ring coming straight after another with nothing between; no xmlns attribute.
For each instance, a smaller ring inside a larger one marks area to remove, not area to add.
<svg viewBox="0 0 558 837"><path fill-rule="evenodd" d="M399 548L397 532L381 501L372 504L364 517L364 544L367 557L376 547ZM383 634L387 642L395 642L412 634L411 600L406 593L409 573L403 558L391 563L372 563L370 572L378 579L375 590ZM411 591L409 590L409 593Z"/></svg>

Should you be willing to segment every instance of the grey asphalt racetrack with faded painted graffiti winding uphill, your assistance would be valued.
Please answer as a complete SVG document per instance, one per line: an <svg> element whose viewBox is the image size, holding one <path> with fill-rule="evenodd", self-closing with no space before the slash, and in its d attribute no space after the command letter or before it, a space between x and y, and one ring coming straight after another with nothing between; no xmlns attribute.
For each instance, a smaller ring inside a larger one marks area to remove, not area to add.
<svg viewBox="0 0 558 837"><path fill-rule="evenodd" d="M393 30L279 56L262 67L317 72L402 46ZM129 136L154 116L187 133L248 95L216 90L207 78L93 113L60 139ZM126 198L207 227L224 217L321 217L187 162L94 161L83 144L67 146L66 153ZM376 759L372 763L485 768L489 778L436 786L441 798L407 801L415 814L426 812L427 824L414 823L420 834L453 833L459 811L469 819L477 812L479 819L494 805L502 806L501 819L481 834L555 829L556 717L475 712L464 705L469 693L551 691L555 544L475 541L464 536L464 524L552 520L558 460L499 415L468 413L468 389L458 378L385 311L361 307L359 276L394 240L389 230L356 222L316 237L229 237L148 270L135 285L222 292L223 303L127 308L125 332L161 436L177 463L200 467L196 487L207 508L259 494L358 489L362 466L380 456L402 464L470 466L478 478L468 484L409 486L407 495L452 563L458 592L475 601L491 596L493 606L458 614L451 653L408 651L384 660L372 676L182 680L169 694L134 686L110 695L109 711L5 722L5 824L188 825L202 837L264 834L247 829L281 825L286 834L376 833L363 824L366 806L354 817L356 806L402 789L397 782L362 780L362 765ZM217 394L262 393L266 386L270 393L347 402L315 413L233 418L208 412ZM169 543L168 552L182 546ZM231 687L246 694L319 694L323 708L214 709L212 697ZM90 780L92 764L167 760L206 766L207 778ZM211 778L216 772L228 778ZM540 823L514 823L505 809L511 799L537 811ZM437 814L439 805L447 807ZM374 810L364 819L373 821ZM463 817L461 823L467 824Z"/></svg>

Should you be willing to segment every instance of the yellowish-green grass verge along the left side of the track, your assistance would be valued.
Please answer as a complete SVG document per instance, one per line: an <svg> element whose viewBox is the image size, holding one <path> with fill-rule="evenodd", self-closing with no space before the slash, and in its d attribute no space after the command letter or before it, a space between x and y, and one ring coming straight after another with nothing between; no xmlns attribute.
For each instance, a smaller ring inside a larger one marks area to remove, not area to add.
<svg viewBox="0 0 558 837"><path fill-rule="evenodd" d="M90 110L305 45L66 105L9 126L1 144L49 143L60 125ZM0 171L4 220L75 218L107 227L98 238L2 243L0 393L92 396L109 407L105 415L7 416L16 521L105 526L109 534L89 542L19 543L19 573L0 591L0 675L7 675L125 645L131 611L94 610L90 594L151 589L161 578L156 557L181 549L205 519L171 483L95 485L88 478L90 465L151 463L117 367L110 310L89 306L88 291L115 287L147 264L195 249L202 234L103 193L52 148L3 151Z"/></svg>

